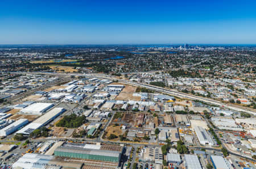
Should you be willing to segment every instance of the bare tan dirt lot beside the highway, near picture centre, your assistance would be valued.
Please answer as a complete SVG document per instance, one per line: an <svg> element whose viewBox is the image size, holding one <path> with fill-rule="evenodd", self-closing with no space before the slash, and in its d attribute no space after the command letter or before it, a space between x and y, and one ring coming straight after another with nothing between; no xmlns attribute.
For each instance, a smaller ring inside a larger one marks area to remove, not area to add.
<svg viewBox="0 0 256 169"><path fill-rule="evenodd" d="M141 101L141 97L133 96L137 87L125 85L125 88L119 93L115 100L135 100Z"/></svg>

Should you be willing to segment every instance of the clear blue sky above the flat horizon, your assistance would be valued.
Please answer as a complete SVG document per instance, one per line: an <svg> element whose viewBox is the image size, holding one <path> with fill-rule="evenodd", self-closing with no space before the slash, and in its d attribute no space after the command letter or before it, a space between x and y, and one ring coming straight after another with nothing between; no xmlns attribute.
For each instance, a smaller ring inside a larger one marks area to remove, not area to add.
<svg viewBox="0 0 256 169"><path fill-rule="evenodd" d="M256 1L0 1L0 44L179 43L256 44Z"/></svg>

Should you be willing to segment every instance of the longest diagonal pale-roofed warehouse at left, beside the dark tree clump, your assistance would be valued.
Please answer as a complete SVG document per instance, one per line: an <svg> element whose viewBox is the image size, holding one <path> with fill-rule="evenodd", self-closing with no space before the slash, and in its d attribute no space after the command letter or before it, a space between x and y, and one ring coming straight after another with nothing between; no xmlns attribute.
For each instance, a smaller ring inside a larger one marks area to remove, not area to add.
<svg viewBox="0 0 256 169"><path fill-rule="evenodd" d="M19 130L16 133L20 133L23 135L28 136L30 133L32 133L35 129L39 129L42 126L48 124L48 122L52 121L55 119L57 116L59 116L61 113L65 111L64 108L53 108L51 111L47 112L43 116L39 117L38 119L34 120L21 130Z"/></svg>

